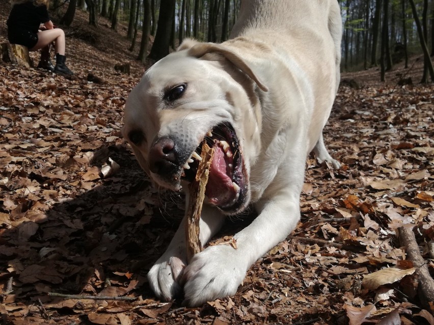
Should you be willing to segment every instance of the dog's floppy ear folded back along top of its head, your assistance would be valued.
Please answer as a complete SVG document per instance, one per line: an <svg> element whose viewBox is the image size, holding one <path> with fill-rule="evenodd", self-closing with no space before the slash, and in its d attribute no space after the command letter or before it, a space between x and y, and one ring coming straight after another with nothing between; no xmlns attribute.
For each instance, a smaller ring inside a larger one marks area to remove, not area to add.
<svg viewBox="0 0 434 325"><path fill-rule="evenodd" d="M191 41L191 40L189 40ZM184 43L180 47L182 47ZM190 44L191 45L191 44ZM239 70L247 74L250 78L252 78L256 84L261 88L262 91L268 92L268 88L259 80L259 78L255 75L255 73L250 69L249 65L242 60L242 58L236 54L235 52L227 49L226 47L220 44L214 43L199 43L193 44L192 47L188 49L188 54L196 57L201 57L206 53L220 53L227 58L235 67Z"/></svg>

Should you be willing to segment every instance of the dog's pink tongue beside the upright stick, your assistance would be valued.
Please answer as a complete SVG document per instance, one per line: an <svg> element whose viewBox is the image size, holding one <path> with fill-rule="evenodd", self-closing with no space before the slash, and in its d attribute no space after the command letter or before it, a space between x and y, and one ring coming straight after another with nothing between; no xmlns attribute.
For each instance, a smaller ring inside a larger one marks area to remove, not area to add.
<svg viewBox="0 0 434 325"><path fill-rule="evenodd" d="M214 146L214 155L209 168L205 194L208 196L210 203L219 206L224 206L225 203L232 201L236 195L232 180L226 174L225 153L218 145Z"/></svg>

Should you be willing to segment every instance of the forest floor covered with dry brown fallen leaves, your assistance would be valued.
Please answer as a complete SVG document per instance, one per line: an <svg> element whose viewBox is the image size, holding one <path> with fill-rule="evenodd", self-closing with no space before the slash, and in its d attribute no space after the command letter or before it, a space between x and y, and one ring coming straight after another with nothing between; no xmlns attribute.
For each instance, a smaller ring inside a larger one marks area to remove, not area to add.
<svg viewBox="0 0 434 325"><path fill-rule="evenodd" d="M419 265L397 239L398 227L415 227L434 272L434 89L416 83L420 57L384 83L377 69L342 75L324 130L342 168L309 157L295 231L252 265L234 297L184 308L158 301L147 283L183 203L151 186L120 135L144 67L124 28L107 26L90 28L78 12L65 29L72 78L0 64L0 323L434 324ZM129 75L114 70L123 63ZM398 86L397 75L415 84ZM109 158L119 169L104 177ZM212 244L252 218L228 220Z"/></svg>

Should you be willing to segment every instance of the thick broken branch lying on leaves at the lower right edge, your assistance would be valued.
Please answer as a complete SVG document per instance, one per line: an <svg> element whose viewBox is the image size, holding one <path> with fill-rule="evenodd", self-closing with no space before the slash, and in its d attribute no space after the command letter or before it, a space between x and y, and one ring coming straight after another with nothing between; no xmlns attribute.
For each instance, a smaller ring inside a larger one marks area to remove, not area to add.
<svg viewBox="0 0 434 325"><path fill-rule="evenodd" d="M434 280L429 274L425 260L420 254L419 245L416 242L415 234L412 228L399 227L398 239L401 246L405 247L405 253L413 264L416 274L419 276L418 295L422 304L427 304L429 301L434 301ZM429 306L426 306L429 309Z"/></svg>

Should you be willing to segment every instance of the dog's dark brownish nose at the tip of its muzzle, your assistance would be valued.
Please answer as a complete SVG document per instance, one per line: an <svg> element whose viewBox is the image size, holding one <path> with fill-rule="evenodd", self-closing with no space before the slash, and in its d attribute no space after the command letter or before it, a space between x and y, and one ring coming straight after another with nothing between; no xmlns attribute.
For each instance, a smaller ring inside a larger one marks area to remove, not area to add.
<svg viewBox="0 0 434 325"><path fill-rule="evenodd" d="M159 138L149 151L149 169L157 174L170 173L177 164L177 156L175 142L170 138Z"/></svg>

